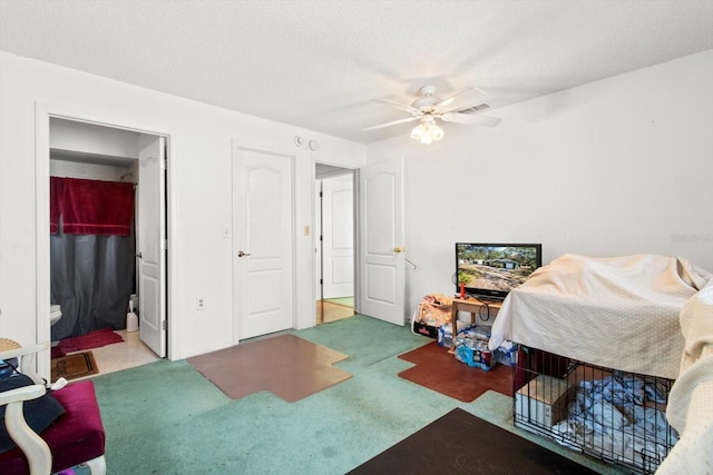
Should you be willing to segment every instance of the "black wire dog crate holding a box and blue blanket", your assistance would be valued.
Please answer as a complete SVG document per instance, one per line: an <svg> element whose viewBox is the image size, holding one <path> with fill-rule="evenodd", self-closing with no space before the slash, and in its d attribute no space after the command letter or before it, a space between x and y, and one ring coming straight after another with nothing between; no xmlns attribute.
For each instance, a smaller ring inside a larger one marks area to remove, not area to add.
<svg viewBox="0 0 713 475"><path fill-rule="evenodd" d="M666 422L673 382L521 346L514 367L517 427L636 473L654 473L678 435Z"/></svg>

